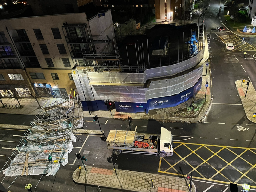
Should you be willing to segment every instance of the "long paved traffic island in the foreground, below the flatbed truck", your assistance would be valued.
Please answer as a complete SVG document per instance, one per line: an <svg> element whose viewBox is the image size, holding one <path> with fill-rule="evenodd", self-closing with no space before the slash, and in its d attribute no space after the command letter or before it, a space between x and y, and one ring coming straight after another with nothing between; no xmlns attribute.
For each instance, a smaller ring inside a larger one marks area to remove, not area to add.
<svg viewBox="0 0 256 192"><path fill-rule="evenodd" d="M127 170L117 170L118 176L116 176L114 170L101 169L91 166L87 166L87 168L87 173L83 167L81 167L81 170L77 168L74 171L73 180L75 183L141 192L189 191L189 181L185 178ZM154 181L154 189L150 188L151 179ZM191 191L195 192L195 189L193 188Z"/></svg>

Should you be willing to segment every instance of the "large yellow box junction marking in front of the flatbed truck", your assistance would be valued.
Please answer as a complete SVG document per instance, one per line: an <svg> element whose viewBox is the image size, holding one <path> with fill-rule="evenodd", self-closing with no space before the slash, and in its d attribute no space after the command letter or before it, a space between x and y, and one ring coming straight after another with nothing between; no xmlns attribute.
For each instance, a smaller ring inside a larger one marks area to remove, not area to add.
<svg viewBox="0 0 256 192"><path fill-rule="evenodd" d="M220 146L220 145L205 145L205 144L197 144L197 143L182 143L182 142L174 142L174 143L179 144L178 146L176 146L176 147L174 148L174 153L177 154L177 156L178 156L179 158L181 158L181 159L180 159L179 161L177 161L176 163L174 163L173 165L171 165L165 158L162 158L162 157L161 157L161 158L160 158L160 161L159 161L159 166L158 166L158 172L159 172L159 173L166 173L166 174L178 175L178 176L186 177L186 175L187 175L188 173L185 174L185 175L179 174L179 172L174 168L175 165L177 165L177 164L180 163L181 161L184 161L187 165L189 165L189 166L192 168L191 171L196 171L196 172L201 176L201 177L193 177L193 178L195 178L195 179L203 179L203 180L206 180L206 181L214 181L214 182L229 184L229 183L232 183L232 182L231 182L230 179L228 179L225 175L223 175L223 174L221 173L221 171L224 170L227 166L231 166L233 169L235 169L236 171L238 171L239 173L242 174L242 176L241 176L240 178L238 178L234 183L236 183L237 185L242 186L242 184L239 184L239 183L237 183L237 182L238 182L241 178L246 177L246 178L248 178L249 180L251 180L254 184L256 184L256 182L253 181L253 179L249 178L249 177L246 175L246 174L249 173L249 171L251 171L253 168L256 169L256 164L255 164L255 165L252 165L251 163L249 163L248 161L246 161L244 158L241 157L241 155L243 155L246 151L251 151L252 153L254 153L254 154L256 155L256 153L253 151L253 150L256 150L256 149L254 149L254 148L245 148L245 147ZM192 149L190 149L187 145L198 145L198 147L197 147L197 149L192 150ZM191 151L191 153L189 153L189 154L186 155L185 157L181 157L181 156L175 151L175 149L177 149L177 148L180 147L180 146L185 146L185 147L187 147L187 149L189 149L189 150ZM213 146L213 147L219 147L220 150L218 150L216 153L214 153L211 149L209 149L209 147L211 147L211 146ZM205 149L211 151L211 153L213 153L213 155L211 155L209 158L207 158L206 160L204 160L202 157L200 157L200 156L196 153L196 151L199 150L199 149L202 148L202 147L205 147ZM236 157L235 157L232 161L227 162L225 159L223 159L222 157L220 157L220 156L218 155L218 153L221 152L223 149L229 150L231 153L233 153L234 155L236 155ZM244 151L238 155L238 154L236 154L234 151L232 151L232 150L230 150L230 149L244 149ZM187 157L189 157L191 154L197 155L197 157L199 157L203 162L200 163L198 166L193 167L192 165L190 165L190 163L188 163L188 162L185 160L185 159L186 159ZM217 169L215 169L215 167L213 167L212 165L210 165L210 164L207 162L209 159L211 159L211 158L214 157L214 156L217 156L217 157L220 158L222 161L226 162L227 165L225 165L225 166L224 166L222 169L220 169L219 171L218 171ZM242 172L239 171L237 168L235 168L233 165L231 165L231 163L233 163L233 162L234 162L236 159L238 159L238 158L242 159L243 161L245 161L246 163L248 163L248 164L251 165L252 167L251 167L249 170L247 170L245 173L242 173ZM162 160L164 160L164 161L170 166L170 167L169 167L168 169L166 169L165 171L161 171L161 170L160 170L160 169L161 169ZM213 176L211 176L209 179L208 179L208 178L205 178L205 176L203 176L201 173L199 173L199 172L197 171L197 168L200 167L201 165L203 165L204 163L207 163L207 165L209 165L211 168L213 168L215 171L217 171L217 173L215 173L215 174L214 174ZM167 171L170 170L170 169L173 169L176 173L167 172ZM190 173L191 171L189 171L189 173ZM227 181L229 181L229 182L218 181L218 180L213 179L217 174L221 174L222 177L224 177L225 179L227 179ZM255 185L255 186L251 186L251 187L252 187L252 188L256 188L256 185Z"/></svg>

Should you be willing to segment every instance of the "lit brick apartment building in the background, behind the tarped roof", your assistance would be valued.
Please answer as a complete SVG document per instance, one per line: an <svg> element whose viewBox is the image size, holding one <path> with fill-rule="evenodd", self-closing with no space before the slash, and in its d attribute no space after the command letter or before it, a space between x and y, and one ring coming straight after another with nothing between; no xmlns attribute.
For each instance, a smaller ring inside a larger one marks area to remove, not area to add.
<svg viewBox="0 0 256 192"><path fill-rule="evenodd" d="M194 0L155 0L155 18L157 22L175 19L190 19Z"/></svg>

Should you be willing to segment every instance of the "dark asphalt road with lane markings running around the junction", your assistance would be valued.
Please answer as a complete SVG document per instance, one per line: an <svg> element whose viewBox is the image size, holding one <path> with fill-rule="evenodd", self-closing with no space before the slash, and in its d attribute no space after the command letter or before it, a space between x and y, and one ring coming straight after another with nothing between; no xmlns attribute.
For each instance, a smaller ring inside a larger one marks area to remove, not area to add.
<svg viewBox="0 0 256 192"><path fill-rule="evenodd" d="M211 29L221 26L218 16L219 6L223 7L223 2L212 0L206 12L208 36L211 33L209 52L213 97L207 116L201 123L134 119L132 130L137 127L137 131L141 133L156 134L160 127L172 131L175 154L166 158L131 154L114 155L114 163L118 169L166 175L186 175L193 170L198 191L224 191L229 187L227 184L229 182L240 184L250 182L251 185L256 186L256 125L247 120L235 87L235 81L243 78L250 79L253 85L256 83L254 75L256 59L253 57L256 50L251 50L250 47L250 43L255 42L256 38L242 41L229 31L210 32ZM236 42L234 51L226 50L225 43L229 41ZM243 58L243 51L247 52L246 59ZM29 125L32 118L29 115L0 114L0 123ZM92 121L92 118L85 118L88 129L99 130L97 122L89 121ZM111 118L99 118L99 121L106 135L110 129L128 129L127 121ZM0 166L4 165L4 161L11 154L11 149L20 139L13 135L22 134L23 131L1 130L3 141L0 141L0 147L10 149L0 150ZM75 153L80 151L85 155L88 160L87 165L112 169L112 165L107 163L106 159L112 152L106 148L106 142L99 136L78 136L84 141L74 143L75 148L69 154L69 165L61 166L55 177L44 176L37 191L99 191L97 187L84 187L73 183L72 173L81 163L75 160ZM13 179L9 178L3 185L9 186ZM27 182L35 186L39 179L38 175L20 177L14 182L11 191L20 190L20 187ZM101 191L114 190L101 189Z"/></svg>

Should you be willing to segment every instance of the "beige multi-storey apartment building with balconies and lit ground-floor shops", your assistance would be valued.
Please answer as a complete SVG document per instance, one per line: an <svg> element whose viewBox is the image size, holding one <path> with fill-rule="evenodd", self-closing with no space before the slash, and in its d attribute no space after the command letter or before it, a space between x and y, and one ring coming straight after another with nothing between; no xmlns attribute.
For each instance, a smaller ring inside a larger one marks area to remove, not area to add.
<svg viewBox="0 0 256 192"><path fill-rule="evenodd" d="M89 20L85 13L0 20L1 96L12 97L26 78L42 97L74 93L75 64L92 66L112 50L108 23L110 10Z"/></svg>

